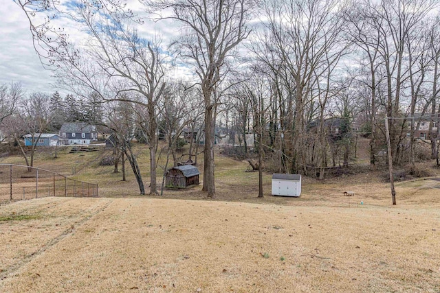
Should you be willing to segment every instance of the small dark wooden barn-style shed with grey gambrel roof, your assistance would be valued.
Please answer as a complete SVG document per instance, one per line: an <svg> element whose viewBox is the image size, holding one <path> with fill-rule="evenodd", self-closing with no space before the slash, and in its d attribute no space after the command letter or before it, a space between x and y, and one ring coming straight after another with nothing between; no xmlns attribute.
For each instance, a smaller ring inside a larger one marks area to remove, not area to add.
<svg viewBox="0 0 440 293"><path fill-rule="evenodd" d="M166 172L166 188L188 188L199 185L199 169L192 165L181 165L168 169Z"/></svg>

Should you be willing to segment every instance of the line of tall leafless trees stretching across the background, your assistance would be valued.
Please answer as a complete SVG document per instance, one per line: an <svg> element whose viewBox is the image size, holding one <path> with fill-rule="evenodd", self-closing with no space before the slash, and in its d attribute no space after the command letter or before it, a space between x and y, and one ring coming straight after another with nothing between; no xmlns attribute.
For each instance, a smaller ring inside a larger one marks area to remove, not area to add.
<svg viewBox="0 0 440 293"><path fill-rule="evenodd" d="M64 14L88 34L74 44L56 29L56 19L33 17L67 8L52 0L17 0L30 18L37 53L57 69L64 89L78 97L94 93L107 103L102 113L113 109L115 121L126 115L115 110L125 108L120 103L131 107L131 123L148 141L151 194L157 193L158 129L166 125L172 140L199 113L203 190L209 196L215 194L216 125L223 124L230 142L244 147L246 134L254 134L260 172L271 158L278 172L319 178L329 167L349 165L358 134L370 139L370 165L377 167L385 121L394 163L415 167L416 131L423 121L430 130L437 127L439 1L141 3L147 14L124 1L80 1ZM164 44L162 32L142 30L151 20L179 27L180 35ZM176 86L179 66L192 75ZM186 110L174 122L159 123L171 117L164 114L170 105L172 113ZM438 128L429 136L434 158Z"/></svg>

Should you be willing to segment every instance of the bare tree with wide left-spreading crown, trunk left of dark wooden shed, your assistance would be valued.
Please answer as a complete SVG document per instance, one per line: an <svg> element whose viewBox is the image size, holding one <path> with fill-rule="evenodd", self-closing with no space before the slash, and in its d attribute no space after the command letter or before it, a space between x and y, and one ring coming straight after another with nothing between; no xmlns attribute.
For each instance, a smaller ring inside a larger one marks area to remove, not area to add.
<svg viewBox="0 0 440 293"><path fill-rule="evenodd" d="M160 41L153 45L140 38L118 13L99 17L94 9L94 6L87 5L78 8L91 38L82 51L83 55L79 51L71 53L68 49L60 53L69 58L63 57L62 62L58 62L58 78L65 88L80 96L87 97L93 91L104 102L131 102L146 109L146 135L151 159L150 194L157 194L157 103L165 88Z"/></svg>

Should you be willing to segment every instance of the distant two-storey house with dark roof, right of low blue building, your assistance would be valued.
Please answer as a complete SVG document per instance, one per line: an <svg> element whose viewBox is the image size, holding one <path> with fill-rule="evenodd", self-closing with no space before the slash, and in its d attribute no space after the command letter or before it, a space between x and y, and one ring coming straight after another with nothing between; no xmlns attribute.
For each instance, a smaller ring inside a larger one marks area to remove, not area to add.
<svg viewBox="0 0 440 293"><path fill-rule="evenodd" d="M69 122L60 129L60 137L67 139L69 145L89 145L98 140L96 126L85 122Z"/></svg>

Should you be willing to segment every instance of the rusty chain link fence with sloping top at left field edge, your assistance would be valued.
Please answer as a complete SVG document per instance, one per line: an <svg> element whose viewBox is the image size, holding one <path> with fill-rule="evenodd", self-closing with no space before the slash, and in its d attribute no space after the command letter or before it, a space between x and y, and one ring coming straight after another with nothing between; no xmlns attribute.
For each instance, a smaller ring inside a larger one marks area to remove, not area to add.
<svg viewBox="0 0 440 293"><path fill-rule="evenodd" d="M98 197L98 185L41 168L0 164L0 202L47 196Z"/></svg>

